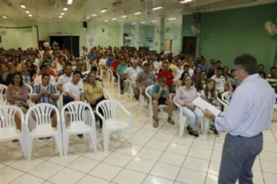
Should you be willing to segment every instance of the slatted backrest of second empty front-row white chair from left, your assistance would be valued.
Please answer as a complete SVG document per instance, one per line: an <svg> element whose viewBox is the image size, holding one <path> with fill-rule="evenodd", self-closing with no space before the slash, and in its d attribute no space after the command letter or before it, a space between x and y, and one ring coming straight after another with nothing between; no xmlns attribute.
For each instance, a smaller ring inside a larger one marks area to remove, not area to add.
<svg viewBox="0 0 277 184"><path fill-rule="evenodd" d="M30 107L26 113L25 123L28 124L29 130L51 128L51 115L56 113L57 130L60 130L60 112L58 108L52 104L40 103Z"/></svg>

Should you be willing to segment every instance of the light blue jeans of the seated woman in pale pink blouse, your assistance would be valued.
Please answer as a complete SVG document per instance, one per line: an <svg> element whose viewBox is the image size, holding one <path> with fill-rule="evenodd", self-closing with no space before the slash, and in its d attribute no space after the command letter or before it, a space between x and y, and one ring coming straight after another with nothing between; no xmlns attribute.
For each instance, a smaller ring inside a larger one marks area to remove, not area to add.
<svg viewBox="0 0 277 184"><path fill-rule="evenodd" d="M198 107L192 112L190 109L184 107L183 108L183 115L190 120L191 124L190 127L195 130L196 126L203 120L204 115L201 109Z"/></svg>

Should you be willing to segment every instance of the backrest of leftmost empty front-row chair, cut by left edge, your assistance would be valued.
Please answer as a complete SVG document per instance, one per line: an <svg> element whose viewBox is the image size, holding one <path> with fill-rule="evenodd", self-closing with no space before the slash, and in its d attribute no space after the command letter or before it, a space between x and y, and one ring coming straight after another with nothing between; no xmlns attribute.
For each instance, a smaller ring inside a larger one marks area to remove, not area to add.
<svg viewBox="0 0 277 184"><path fill-rule="evenodd" d="M24 121L24 114L20 108L12 105L0 106L0 130L16 129L15 113L17 112L20 114L21 120Z"/></svg>

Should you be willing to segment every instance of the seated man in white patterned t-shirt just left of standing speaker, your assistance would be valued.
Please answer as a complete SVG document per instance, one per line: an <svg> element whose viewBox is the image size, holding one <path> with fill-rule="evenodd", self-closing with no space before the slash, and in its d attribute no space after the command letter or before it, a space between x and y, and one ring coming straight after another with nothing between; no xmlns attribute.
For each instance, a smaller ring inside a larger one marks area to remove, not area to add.
<svg viewBox="0 0 277 184"><path fill-rule="evenodd" d="M219 67L216 69L215 75L211 77L211 79L215 80L215 89L218 92L218 96L221 98L221 94L225 91L228 91L228 87L226 85L225 77L222 75L223 68Z"/></svg>

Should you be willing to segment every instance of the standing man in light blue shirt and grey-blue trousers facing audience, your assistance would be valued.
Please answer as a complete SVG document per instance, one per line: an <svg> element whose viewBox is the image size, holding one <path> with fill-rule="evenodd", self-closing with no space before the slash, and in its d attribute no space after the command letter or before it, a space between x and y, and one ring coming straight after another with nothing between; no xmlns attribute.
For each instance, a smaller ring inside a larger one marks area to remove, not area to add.
<svg viewBox="0 0 277 184"><path fill-rule="evenodd" d="M215 121L218 131L227 131L219 170L219 184L252 184L252 166L263 149L262 131L270 128L275 92L257 73L256 58L235 58L234 69L241 85L236 88L224 117L209 110L204 115Z"/></svg>

